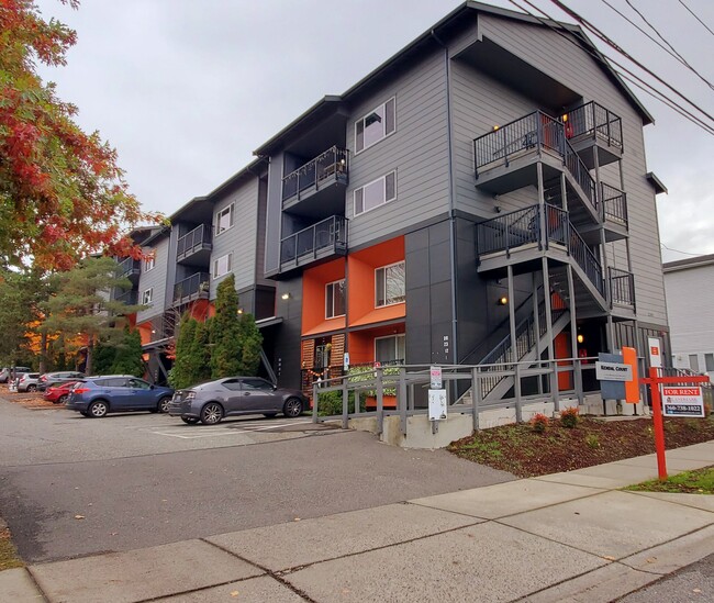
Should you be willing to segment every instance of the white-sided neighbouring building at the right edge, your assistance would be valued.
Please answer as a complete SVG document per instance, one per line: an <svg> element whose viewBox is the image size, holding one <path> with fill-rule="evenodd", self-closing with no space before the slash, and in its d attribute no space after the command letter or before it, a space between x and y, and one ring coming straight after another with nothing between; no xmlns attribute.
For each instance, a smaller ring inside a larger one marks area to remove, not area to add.
<svg viewBox="0 0 714 603"><path fill-rule="evenodd" d="M663 265L676 368L714 379L714 255Z"/></svg>

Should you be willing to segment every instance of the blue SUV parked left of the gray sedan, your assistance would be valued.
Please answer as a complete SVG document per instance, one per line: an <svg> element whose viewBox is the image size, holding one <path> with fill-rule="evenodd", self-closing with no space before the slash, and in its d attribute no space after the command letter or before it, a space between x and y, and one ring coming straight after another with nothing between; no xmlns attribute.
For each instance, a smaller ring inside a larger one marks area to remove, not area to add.
<svg viewBox="0 0 714 603"><path fill-rule="evenodd" d="M65 407L97 418L125 411L165 413L171 395L172 389L152 386L132 375L86 377L71 389Z"/></svg>

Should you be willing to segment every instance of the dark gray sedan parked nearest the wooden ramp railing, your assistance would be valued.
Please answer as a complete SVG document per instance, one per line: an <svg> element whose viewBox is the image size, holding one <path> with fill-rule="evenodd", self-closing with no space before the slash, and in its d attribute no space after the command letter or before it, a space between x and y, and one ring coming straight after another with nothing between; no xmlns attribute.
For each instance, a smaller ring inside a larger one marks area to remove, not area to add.
<svg viewBox="0 0 714 603"><path fill-rule="evenodd" d="M227 377L177 391L168 409L183 423L214 425L224 416L282 413L294 417L308 406L308 399L298 390L278 389L259 377Z"/></svg>

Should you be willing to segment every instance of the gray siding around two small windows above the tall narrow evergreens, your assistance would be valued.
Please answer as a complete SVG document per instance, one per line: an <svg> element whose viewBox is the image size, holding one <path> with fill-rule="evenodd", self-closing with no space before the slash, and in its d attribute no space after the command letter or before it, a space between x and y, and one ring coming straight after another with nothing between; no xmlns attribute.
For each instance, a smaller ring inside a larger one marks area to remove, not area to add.
<svg viewBox="0 0 714 603"><path fill-rule="evenodd" d="M219 282L213 279L213 260L233 253L232 271L235 275L236 289L252 287L256 281L256 261L258 246L258 179L253 178L237 190L216 201L213 210L213 232L215 233L215 216L235 203L233 227L220 235L213 235L211 253L211 299L215 298Z"/></svg>

